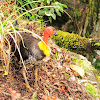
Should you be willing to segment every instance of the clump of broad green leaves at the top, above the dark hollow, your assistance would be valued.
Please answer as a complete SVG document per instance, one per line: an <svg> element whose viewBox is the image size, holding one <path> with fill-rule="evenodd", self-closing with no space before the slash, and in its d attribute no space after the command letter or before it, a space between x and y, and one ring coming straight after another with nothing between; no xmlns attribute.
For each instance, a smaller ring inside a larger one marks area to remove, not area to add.
<svg viewBox="0 0 100 100"><path fill-rule="evenodd" d="M31 10L34 8L39 8L35 11L26 13L26 16L24 17L26 17L29 20L36 19L39 21L43 21L43 16L47 16L50 22L52 22L52 18L56 20L56 15L61 16L61 13L63 13L63 8L64 7L67 8L66 5L61 4L57 1L53 2L53 0L37 0L37 1L16 0L16 1L17 1L17 5L22 7L21 13L27 12L28 10Z"/></svg>

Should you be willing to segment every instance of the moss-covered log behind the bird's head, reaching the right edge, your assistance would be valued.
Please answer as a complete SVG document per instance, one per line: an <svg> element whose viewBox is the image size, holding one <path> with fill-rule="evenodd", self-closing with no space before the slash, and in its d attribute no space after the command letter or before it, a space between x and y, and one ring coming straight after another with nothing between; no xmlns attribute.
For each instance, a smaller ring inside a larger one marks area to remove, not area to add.
<svg viewBox="0 0 100 100"><path fill-rule="evenodd" d="M69 49L70 51L83 54L84 52L93 53L94 49L100 49L99 46L96 47L95 45L100 39L85 38L78 34L63 32L61 30L58 30L57 34L58 36L51 36L51 38L58 46Z"/></svg>

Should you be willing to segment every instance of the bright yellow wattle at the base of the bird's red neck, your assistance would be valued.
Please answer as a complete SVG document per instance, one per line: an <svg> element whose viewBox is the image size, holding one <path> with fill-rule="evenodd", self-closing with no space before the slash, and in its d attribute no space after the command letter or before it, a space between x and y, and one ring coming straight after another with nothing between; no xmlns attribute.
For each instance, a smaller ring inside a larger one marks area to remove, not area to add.
<svg viewBox="0 0 100 100"><path fill-rule="evenodd" d="M45 45L42 41L38 43L39 48L44 52L46 56L50 56L50 48Z"/></svg>

